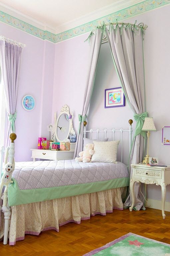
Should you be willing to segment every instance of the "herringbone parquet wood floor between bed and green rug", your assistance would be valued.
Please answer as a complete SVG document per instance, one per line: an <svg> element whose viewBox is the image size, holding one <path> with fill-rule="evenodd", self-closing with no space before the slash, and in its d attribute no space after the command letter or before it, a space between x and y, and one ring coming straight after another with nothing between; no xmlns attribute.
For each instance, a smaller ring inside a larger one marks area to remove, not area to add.
<svg viewBox="0 0 170 256"><path fill-rule="evenodd" d="M106 216L96 215L81 224L68 223L39 236L25 235L15 246L0 242L0 256L82 256L127 233L135 233L170 244L170 212L162 219L160 210L114 210Z"/></svg>

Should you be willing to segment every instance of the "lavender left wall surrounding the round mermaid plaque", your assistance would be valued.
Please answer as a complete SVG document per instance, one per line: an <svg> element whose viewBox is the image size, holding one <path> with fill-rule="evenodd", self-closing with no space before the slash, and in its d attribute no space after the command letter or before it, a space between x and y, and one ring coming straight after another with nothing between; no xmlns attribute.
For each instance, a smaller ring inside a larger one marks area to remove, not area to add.
<svg viewBox="0 0 170 256"><path fill-rule="evenodd" d="M51 122L55 45L4 23L0 23L0 31L1 35L26 44L18 91L15 158L16 161L31 161L30 149L37 148L39 136L48 135L47 124ZM36 100L32 111L22 107L26 94Z"/></svg>

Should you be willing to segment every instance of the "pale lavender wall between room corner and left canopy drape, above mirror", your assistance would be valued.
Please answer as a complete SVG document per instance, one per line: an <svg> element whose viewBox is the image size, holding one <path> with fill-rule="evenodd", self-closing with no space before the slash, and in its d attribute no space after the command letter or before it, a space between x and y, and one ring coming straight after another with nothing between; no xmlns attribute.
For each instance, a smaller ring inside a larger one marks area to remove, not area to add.
<svg viewBox="0 0 170 256"><path fill-rule="evenodd" d="M53 89L53 111L60 113L64 104L68 104L74 114L74 128L78 129L78 114L82 113L85 76L88 64L88 43L86 35L56 44L55 72Z"/></svg>

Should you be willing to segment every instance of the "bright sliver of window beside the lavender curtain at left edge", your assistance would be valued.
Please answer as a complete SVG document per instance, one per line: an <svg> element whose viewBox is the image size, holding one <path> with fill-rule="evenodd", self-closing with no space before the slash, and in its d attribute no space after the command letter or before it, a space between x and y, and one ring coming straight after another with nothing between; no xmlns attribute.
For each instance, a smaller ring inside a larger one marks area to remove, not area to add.
<svg viewBox="0 0 170 256"><path fill-rule="evenodd" d="M0 70L0 148L4 146L4 137L5 137L5 99L3 92L3 84L2 84L2 74Z"/></svg>

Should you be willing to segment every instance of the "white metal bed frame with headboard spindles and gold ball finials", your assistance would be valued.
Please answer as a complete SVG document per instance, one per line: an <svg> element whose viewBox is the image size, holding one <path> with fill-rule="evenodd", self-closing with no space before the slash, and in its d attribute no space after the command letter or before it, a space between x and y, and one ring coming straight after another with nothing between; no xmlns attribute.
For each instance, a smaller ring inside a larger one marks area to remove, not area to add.
<svg viewBox="0 0 170 256"><path fill-rule="evenodd" d="M130 148L131 148L131 143L132 143L132 123L133 120L129 120L129 129L128 130L124 130L123 128L121 128L120 130L116 130L115 128L113 128L112 130L92 130L90 129L89 131L86 130L86 124L87 122L84 122L84 138L86 137L86 133L90 133L90 138L92 139L92 134L93 133L97 133L97 139L99 138L99 133L104 133L105 134L105 138L107 137L108 133L112 133L113 135L113 140L115 139L115 133L120 132L121 134L121 162L122 162L122 140L123 140L123 133L124 132L128 132L129 133L129 152L130 152ZM11 139L11 143L9 146L9 159L8 162L9 163L13 163L13 159L14 159L14 154L15 154L15 144L14 144L14 140L17 138L15 133L11 133L10 134L10 139ZM1 174L2 174L2 160L3 160L3 154L4 154L4 147L2 147L1 149L1 165L0 165L0 180L1 180ZM4 240L3 240L3 244L6 245L8 243L8 228L9 228L9 219L10 219L10 215L11 215L11 210L10 207L8 205L8 212L4 212L4 219L5 219L5 225L4 225Z"/></svg>

